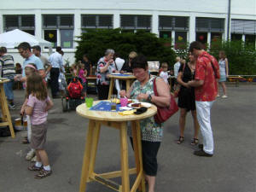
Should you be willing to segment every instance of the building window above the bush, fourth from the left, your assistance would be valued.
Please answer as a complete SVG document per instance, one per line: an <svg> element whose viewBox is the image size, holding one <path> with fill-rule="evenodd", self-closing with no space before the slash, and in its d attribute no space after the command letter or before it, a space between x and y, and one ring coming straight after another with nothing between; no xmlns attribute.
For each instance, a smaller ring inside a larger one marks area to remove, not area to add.
<svg viewBox="0 0 256 192"><path fill-rule="evenodd" d="M139 29L151 31L151 15L120 15L120 23L122 32L125 30Z"/></svg>

